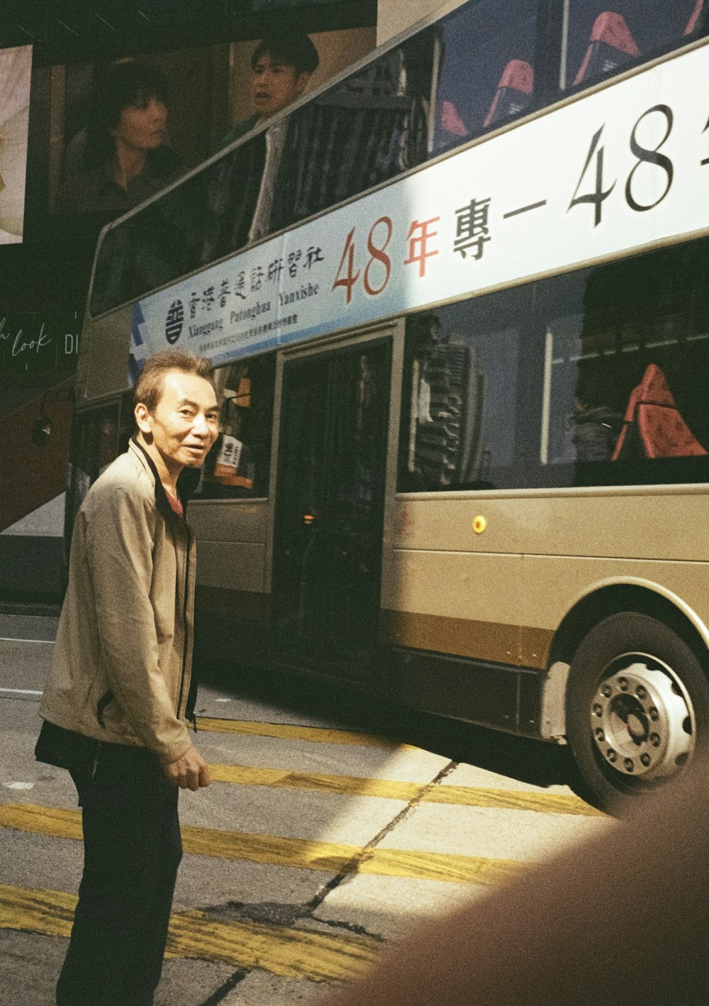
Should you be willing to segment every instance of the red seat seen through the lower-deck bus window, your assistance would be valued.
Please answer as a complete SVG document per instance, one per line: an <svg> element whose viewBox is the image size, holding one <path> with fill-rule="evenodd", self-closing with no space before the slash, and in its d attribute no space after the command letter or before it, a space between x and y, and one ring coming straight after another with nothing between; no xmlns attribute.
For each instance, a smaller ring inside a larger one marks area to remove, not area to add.
<svg viewBox="0 0 709 1006"><path fill-rule="evenodd" d="M617 439L612 460L628 455L635 425L636 443L640 441L642 456L646 458L689 458L707 452L694 437L675 403L665 374L651 363L643 380L631 391L626 409L625 424Z"/></svg>

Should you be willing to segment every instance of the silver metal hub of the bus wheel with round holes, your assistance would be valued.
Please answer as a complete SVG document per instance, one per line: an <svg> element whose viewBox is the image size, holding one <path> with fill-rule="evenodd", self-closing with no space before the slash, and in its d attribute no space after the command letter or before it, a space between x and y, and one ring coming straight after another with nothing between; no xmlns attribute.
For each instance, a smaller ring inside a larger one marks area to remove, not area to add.
<svg viewBox="0 0 709 1006"><path fill-rule="evenodd" d="M655 659L624 657L608 670L590 709L599 754L626 776L646 781L671 776L694 749L689 695L670 668Z"/></svg>

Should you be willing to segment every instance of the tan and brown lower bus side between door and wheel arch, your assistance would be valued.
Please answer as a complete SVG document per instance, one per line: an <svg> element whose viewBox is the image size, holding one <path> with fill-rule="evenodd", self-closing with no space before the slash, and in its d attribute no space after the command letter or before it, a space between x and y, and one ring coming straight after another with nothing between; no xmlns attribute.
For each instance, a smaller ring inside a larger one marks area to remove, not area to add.
<svg viewBox="0 0 709 1006"><path fill-rule="evenodd" d="M706 640L703 502L682 490L397 499L379 631L392 648L392 692L430 711L539 735L556 632L578 600L608 582L676 596ZM648 528L658 527L667 528L667 558L653 557L658 535Z"/></svg>

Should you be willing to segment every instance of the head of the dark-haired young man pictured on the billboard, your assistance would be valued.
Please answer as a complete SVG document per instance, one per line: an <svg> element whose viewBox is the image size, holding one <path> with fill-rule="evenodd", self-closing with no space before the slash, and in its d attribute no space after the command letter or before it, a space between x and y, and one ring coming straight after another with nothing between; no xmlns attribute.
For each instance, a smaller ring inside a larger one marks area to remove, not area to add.
<svg viewBox="0 0 709 1006"><path fill-rule="evenodd" d="M262 38L251 56L253 115L236 123L222 146L227 147L300 98L319 65L318 50L306 34Z"/></svg>

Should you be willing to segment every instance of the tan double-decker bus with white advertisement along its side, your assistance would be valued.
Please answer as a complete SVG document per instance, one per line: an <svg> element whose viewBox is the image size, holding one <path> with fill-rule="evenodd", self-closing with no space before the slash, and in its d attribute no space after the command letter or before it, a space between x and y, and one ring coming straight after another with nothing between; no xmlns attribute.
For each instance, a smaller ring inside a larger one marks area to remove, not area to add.
<svg viewBox="0 0 709 1006"><path fill-rule="evenodd" d="M608 5L609 4L609 5ZM209 356L198 648L568 742L709 731L703 0L449 7L107 227L69 517Z"/></svg>

